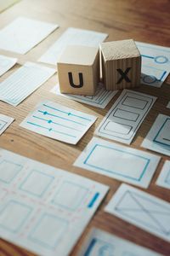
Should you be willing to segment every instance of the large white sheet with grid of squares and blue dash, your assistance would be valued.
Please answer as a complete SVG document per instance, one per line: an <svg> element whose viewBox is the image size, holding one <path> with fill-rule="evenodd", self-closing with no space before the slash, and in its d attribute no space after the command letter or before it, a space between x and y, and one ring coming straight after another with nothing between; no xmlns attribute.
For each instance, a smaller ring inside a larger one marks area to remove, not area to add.
<svg viewBox="0 0 170 256"><path fill-rule="evenodd" d="M108 189L0 149L0 236L38 255L68 255Z"/></svg>

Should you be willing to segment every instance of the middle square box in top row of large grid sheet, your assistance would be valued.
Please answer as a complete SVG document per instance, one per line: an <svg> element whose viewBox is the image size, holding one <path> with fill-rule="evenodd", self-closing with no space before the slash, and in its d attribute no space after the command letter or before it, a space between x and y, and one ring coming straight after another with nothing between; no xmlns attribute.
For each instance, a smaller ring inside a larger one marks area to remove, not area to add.
<svg viewBox="0 0 170 256"><path fill-rule="evenodd" d="M31 195L41 197L46 192L53 180L53 176L33 170L28 174L23 183L21 183L20 189Z"/></svg>

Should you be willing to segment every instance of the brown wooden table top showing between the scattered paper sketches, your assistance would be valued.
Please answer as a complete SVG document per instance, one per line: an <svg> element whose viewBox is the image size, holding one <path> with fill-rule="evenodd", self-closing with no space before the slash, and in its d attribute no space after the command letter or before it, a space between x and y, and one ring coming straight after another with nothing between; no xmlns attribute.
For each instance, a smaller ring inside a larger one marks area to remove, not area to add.
<svg viewBox="0 0 170 256"><path fill-rule="evenodd" d="M44 51L48 49L48 47L57 38L59 38L68 26L106 32L109 34L108 40L133 38L145 43L169 46L169 9L170 3L168 0L23 0L0 14L0 29L3 28L3 26L8 25L9 22L18 16L51 21L59 24L60 27L48 38L43 40L41 44L38 44L37 47L31 49L31 51L26 55L17 55L8 51L0 50L0 54L18 57L19 59L19 65L16 65L12 70L3 75L0 81L3 81L3 79L7 78L10 73L20 67L20 64L23 64L26 61L37 61ZM79 102L66 100L64 97L55 96L49 92L49 90L54 87L56 80L57 76L54 75L54 77L49 79L46 84L43 84L18 107L14 108L4 102L0 102L0 112L12 116L15 119L14 123L10 125L8 130L0 137L0 147L11 150L17 154L25 155L31 159L39 160L48 165L80 174L83 177L89 177L111 187L105 201L99 207L99 210L94 215L90 224L88 224L87 229L83 232L82 237L79 239L77 246L73 249L71 255L77 254L85 236L87 236L88 231L92 227L98 227L101 230L106 230L111 234L133 241L141 246L148 247L156 252L162 253L163 255L170 255L170 245L167 241L163 241L156 236L152 236L144 230L140 230L134 225L128 224L127 222L104 212L106 203L111 199L111 196L116 192L116 189L118 189L121 182L94 172L86 172L86 170L72 166L73 162L77 159L77 156L94 136L94 131L99 125L99 122L103 119L105 113L107 113L111 108L113 102L116 101L116 98L120 93L112 99L105 109L94 108ZM139 131L134 137L133 143L130 147L140 147L143 138L146 136L148 131L150 131L150 127L158 113L169 115L169 109L166 108L167 102L170 100L169 86L170 79L168 78L161 89L154 87L151 88L150 86L144 85L138 89L139 91L148 93L152 96L158 96L158 100L150 110L150 113L144 119L144 122L139 128ZM99 118L95 125L91 127L76 146L60 143L48 137L42 137L41 135L21 128L19 126L20 122L26 117L32 108L34 108L37 102L40 102L43 99L59 102L67 107L97 115ZM170 202L169 190L156 186L156 178L161 171L164 161L168 159L163 155L161 156L161 162L150 183L150 187L149 189L144 189L144 191L146 190L151 195L156 195L157 197ZM34 254L27 252L23 248L16 247L12 243L8 243L2 239L0 240L0 255L32 256Z"/></svg>

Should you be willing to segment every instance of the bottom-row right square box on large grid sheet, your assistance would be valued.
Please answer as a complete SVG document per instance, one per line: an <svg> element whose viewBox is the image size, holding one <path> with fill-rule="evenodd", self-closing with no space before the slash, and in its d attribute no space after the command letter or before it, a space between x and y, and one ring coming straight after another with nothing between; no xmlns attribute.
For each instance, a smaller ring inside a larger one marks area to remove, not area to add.
<svg viewBox="0 0 170 256"><path fill-rule="evenodd" d="M68 222L63 218L44 213L31 230L29 239L35 241L43 247L54 249L59 243L59 239L65 235Z"/></svg>

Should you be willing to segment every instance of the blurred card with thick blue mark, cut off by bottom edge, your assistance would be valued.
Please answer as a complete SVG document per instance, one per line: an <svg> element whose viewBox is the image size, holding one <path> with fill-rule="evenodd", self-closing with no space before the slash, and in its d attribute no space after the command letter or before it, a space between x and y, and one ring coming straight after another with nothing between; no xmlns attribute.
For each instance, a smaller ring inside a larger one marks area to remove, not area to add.
<svg viewBox="0 0 170 256"><path fill-rule="evenodd" d="M111 235L103 230L93 229L78 256L161 256L161 254L140 247L131 241Z"/></svg>

